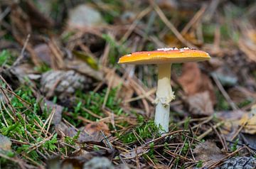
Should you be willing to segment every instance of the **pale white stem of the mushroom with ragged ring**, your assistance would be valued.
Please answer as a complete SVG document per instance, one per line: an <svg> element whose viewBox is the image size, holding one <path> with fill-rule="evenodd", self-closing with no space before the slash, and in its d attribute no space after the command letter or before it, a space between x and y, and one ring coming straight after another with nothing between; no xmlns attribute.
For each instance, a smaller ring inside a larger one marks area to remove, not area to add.
<svg viewBox="0 0 256 169"><path fill-rule="evenodd" d="M171 64L159 64L159 75L156 90L155 124L161 126L160 133L169 131L170 102L175 98L171 89Z"/></svg>

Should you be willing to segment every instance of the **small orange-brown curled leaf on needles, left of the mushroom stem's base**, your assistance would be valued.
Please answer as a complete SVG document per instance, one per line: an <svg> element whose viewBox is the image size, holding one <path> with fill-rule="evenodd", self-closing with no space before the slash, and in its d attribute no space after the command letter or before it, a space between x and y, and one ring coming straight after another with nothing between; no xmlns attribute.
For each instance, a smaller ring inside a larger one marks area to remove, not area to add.
<svg viewBox="0 0 256 169"><path fill-rule="evenodd" d="M110 135L110 129L104 122L93 122L91 124L87 124L85 129L83 129L86 133L89 133L91 136L98 135L101 131L105 133L105 135Z"/></svg>

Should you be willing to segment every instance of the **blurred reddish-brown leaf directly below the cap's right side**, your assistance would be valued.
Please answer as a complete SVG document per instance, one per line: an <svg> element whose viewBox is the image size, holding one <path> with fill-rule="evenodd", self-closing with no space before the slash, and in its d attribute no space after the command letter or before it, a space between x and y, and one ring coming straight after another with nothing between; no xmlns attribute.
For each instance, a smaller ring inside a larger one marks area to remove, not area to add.
<svg viewBox="0 0 256 169"><path fill-rule="evenodd" d="M201 72L196 62L187 62L183 64L182 75L178 78L178 82L188 96L208 91L212 104L215 104L213 84L210 82L210 78Z"/></svg>

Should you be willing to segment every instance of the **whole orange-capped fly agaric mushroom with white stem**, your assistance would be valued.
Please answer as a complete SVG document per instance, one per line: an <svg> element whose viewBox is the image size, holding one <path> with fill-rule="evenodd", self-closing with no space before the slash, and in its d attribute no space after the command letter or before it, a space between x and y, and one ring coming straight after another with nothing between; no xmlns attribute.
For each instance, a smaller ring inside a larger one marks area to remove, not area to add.
<svg viewBox="0 0 256 169"><path fill-rule="evenodd" d="M169 131L170 102L175 98L171 89L171 64L209 60L210 55L191 48L160 48L154 51L135 52L119 58L118 63L146 65L156 64L159 69L154 122L160 127L160 133Z"/></svg>

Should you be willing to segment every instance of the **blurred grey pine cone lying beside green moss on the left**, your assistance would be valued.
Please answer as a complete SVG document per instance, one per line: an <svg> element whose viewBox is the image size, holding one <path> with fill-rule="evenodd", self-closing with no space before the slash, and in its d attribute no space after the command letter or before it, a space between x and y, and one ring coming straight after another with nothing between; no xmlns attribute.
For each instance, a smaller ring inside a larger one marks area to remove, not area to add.
<svg viewBox="0 0 256 169"><path fill-rule="evenodd" d="M46 97L57 95L59 99L64 99L74 94L77 89L88 89L90 84L90 77L80 75L74 70L49 71L42 75L41 91Z"/></svg>

